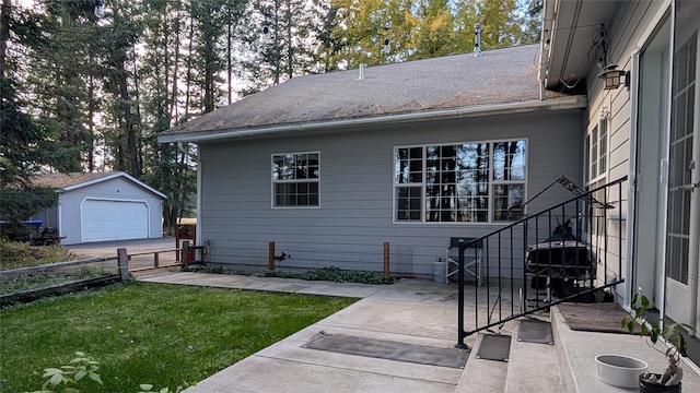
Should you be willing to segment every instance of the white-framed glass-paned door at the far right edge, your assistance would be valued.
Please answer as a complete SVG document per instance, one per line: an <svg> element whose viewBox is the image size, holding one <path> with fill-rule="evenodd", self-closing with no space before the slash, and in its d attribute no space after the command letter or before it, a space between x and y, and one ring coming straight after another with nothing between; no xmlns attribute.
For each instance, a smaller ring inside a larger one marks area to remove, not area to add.
<svg viewBox="0 0 700 393"><path fill-rule="evenodd" d="M700 91L697 83L700 47L696 19L700 2L679 1L676 7L666 212L665 315L695 326L698 320L700 269Z"/></svg>

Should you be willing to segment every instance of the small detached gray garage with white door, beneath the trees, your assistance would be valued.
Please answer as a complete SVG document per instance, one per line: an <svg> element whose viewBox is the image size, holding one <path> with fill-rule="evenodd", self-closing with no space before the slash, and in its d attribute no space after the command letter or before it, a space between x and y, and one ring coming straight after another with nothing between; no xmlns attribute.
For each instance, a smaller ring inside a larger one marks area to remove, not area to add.
<svg viewBox="0 0 700 393"><path fill-rule="evenodd" d="M163 237L166 196L125 172L45 174L35 183L56 188L58 206L40 212L62 245Z"/></svg>

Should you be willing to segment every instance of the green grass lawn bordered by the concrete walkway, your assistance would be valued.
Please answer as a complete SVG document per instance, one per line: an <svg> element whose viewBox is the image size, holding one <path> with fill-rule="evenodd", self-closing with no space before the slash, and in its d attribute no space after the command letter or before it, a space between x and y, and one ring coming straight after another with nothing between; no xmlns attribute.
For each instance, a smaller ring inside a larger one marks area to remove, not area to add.
<svg viewBox="0 0 700 393"><path fill-rule="evenodd" d="M0 310L0 392L36 391L75 352L104 386L194 384L357 299L128 283Z"/></svg>

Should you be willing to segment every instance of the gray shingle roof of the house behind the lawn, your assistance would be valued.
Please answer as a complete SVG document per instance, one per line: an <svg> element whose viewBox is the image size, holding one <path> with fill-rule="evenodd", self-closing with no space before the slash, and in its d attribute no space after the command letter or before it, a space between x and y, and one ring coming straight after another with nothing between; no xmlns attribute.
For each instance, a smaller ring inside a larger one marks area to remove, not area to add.
<svg viewBox="0 0 700 393"><path fill-rule="evenodd" d="M161 135L382 117L539 98L538 45L293 78Z"/></svg>

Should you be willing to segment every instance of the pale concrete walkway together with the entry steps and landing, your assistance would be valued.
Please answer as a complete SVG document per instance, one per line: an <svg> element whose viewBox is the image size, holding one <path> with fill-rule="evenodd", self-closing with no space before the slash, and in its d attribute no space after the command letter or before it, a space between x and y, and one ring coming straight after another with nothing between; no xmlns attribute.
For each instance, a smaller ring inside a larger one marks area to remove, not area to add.
<svg viewBox="0 0 700 393"><path fill-rule="evenodd" d="M476 358L481 334L466 340L471 352L464 369L388 360L307 348L319 335L346 335L373 341L420 345L457 352L456 286L424 279L401 279L394 285L337 284L291 278L261 278L185 272L154 272L138 279L250 290L360 298L350 307L272 344L186 390L217 392L637 392L602 382L595 356L620 354L643 359L661 372L661 352L639 336L575 332L561 313L551 313L555 345L511 344L509 362ZM501 333L517 337L517 322ZM464 354L460 354L464 355ZM684 367L685 392L700 392L698 370Z"/></svg>

